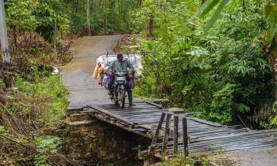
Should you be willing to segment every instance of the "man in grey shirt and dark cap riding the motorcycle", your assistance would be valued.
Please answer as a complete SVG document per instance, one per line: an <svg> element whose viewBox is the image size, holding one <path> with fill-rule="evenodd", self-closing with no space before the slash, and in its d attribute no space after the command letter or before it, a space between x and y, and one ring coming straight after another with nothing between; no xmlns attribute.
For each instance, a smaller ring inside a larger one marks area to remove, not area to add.
<svg viewBox="0 0 277 166"><path fill-rule="evenodd" d="M109 75L111 76L111 80L109 80L109 99L113 99L114 98L114 89L112 89L111 87L114 85L114 74L113 71L125 71L127 72L127 68L129 68L129 73L128 75L132 75L132 72L134 71L134 68L132 66L132 64L129 62L128 59L123 59L123 55L121 53L119 53L116 56L116 60L114 60L113 62L111 62L111 66L110 66L110 71L109 71ZM129 78L127 78L127 81L129 81ZM128 93L128 99L129 99L129 105L130 106L134 106L136 104L133 103L133 94L132 94L132 89L127 86L127 93Z"/></svg>

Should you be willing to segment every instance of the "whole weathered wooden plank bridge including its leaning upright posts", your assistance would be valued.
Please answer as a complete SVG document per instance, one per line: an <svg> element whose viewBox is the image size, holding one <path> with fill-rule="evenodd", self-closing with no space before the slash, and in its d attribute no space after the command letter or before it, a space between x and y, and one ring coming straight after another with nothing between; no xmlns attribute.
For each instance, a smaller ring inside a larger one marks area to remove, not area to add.
<svg viewBox="0 0 277 166"><path fill-rule="evenodd" d="M190 117L193 113L175 114L152 102L139 102L134 107L124 109L115 104L87 105L79 113L88 113L99 120L153 139L149 149L140 151L141 159L145 160L153 156L164 159L179 153L203 154L277 145L277 130L252 131L240 129L239 126L224 126Z"/></svg>

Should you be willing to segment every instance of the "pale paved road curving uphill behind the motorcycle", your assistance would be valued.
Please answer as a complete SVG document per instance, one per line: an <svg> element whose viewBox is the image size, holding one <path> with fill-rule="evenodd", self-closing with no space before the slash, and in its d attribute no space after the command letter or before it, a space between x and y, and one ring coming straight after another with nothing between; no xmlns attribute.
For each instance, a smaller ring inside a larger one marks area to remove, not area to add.
<svg viewBox="0 0 277 166"><path fill-rule="evenodd" d="M69 90L70 108L80 108L87 104L111 103L107 90L93 80L92 74L99 55L114 54L111 50L124 35L93 36L79 38L71 51L72 61L62 71L62 80Z"/></svg>

